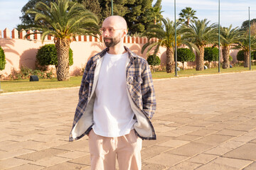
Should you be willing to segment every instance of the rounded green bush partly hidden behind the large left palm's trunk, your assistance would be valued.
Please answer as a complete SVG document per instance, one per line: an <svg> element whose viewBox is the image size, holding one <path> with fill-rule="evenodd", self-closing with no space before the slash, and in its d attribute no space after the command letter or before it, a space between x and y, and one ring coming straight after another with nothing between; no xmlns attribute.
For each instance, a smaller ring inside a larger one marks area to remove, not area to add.
<svg viewBox="0 0 256 170"><path fill-rule="evenodd" d="M73 65L73 50L69 50L69 65ZM55 65L58 67L58 57L55 45L43 45L36 54L37 63L40 66Z"/></svg>

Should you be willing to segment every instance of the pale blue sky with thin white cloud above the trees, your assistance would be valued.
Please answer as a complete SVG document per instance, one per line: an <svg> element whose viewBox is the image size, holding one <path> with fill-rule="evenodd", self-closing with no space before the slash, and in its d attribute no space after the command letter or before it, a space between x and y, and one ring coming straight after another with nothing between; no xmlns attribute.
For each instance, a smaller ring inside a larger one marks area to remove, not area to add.
<svg viewBox="0 0 256 170"><path fill-rule="evenodd" d="M156 0L153 1L153 4ZM13 30L21 23L21 8L28 0L0 0L0 30L9 28ZM174 0L162 0L162 14L174 21ZM202 20L207 18L210 23L218 23L218 0L176 0L176 18L181 9L189 6L196 10L196 16ZM228 27L241 26L248 20L248 7L250 6L250 19L256 18L255 0L220 0L220 25Z"/></svg>

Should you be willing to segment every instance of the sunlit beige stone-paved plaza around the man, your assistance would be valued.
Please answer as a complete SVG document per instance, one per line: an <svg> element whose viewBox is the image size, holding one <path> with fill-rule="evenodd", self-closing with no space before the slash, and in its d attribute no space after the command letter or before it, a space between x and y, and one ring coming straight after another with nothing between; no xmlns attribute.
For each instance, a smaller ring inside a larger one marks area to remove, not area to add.
<svg viewBox="0 0 256 170"><path fill-rule="evenodd" d="M256 72L154 81L157 140L143 169L256 169ZM0 169L90 169L68 142L78 88L0 96Z"/></svg>

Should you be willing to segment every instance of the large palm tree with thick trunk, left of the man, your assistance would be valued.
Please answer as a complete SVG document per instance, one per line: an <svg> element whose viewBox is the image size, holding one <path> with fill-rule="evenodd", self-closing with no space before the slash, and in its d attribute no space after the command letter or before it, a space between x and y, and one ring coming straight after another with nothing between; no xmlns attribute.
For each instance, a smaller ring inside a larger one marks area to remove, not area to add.
<svg viewBox="0 0 256 170"><path fill-rule="evenodd" d="M39 30L42 41L47 35L54 37L58 56L57 79L58 81L68 80L70 78L68 65L70 42L75 35L96 33L97 16L87 11L82 4L69 0L50 2L50 6L39 1L35 8L28 9L26 13L36 15L35 25L30 29Z"/></svg>

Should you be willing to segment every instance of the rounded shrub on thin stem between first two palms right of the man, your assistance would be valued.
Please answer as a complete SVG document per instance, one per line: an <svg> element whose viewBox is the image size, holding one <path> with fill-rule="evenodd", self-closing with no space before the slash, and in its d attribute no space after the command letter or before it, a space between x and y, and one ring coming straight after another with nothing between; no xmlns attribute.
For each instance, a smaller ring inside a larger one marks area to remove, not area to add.
<svg viewBox="0 0 256 170"><path fill-rule="evenodd" d="M188 48L178 48L177 49L177 61L182 62L184 70L184 62L193 62L195 61L195 54L191 52Z"/></svg>

